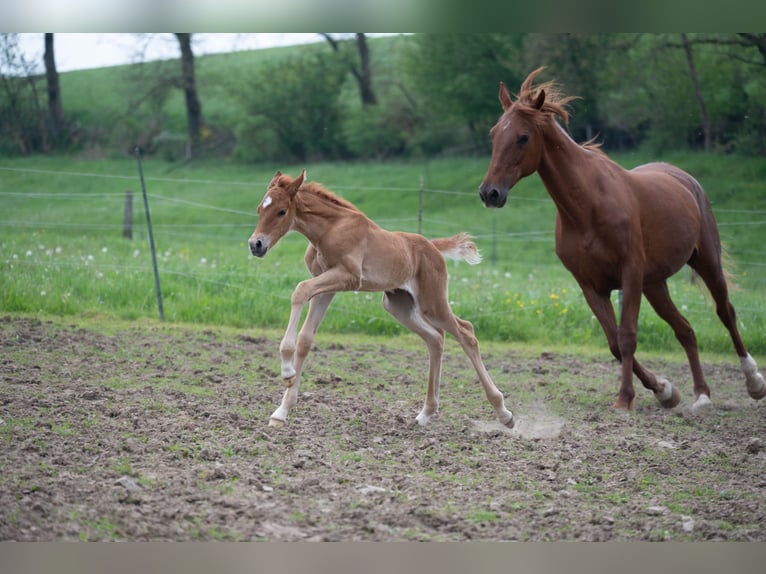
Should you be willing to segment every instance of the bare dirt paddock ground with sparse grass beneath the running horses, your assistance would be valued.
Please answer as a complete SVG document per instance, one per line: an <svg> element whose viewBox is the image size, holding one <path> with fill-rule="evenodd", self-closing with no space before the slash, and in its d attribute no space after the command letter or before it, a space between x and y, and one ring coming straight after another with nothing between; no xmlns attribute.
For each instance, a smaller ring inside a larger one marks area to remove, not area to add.
<svg viewBox="0 0 766 574"><path fill-rule="evenodd" d="M618 413L605 354L483 344L508 431L452 342L421 428L419 341L320 333L275 430L278 342L0 319L0 540L766 541L766 401L734 356L704 363L704 415L686 364L652 357L681 406L639 387Z"/></svg>

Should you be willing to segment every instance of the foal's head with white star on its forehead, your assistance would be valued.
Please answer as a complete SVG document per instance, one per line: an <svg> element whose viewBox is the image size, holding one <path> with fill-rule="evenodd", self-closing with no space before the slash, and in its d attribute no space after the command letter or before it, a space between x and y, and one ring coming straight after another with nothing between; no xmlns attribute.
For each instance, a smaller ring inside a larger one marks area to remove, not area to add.
<svg viewBox="0 0 766 574"><path fill-rule="evenodd" d="M306 170L295 179L277 171L258 206L258 225L250 236L250 252L263 257L290 231L295 219L295 194L303 185Z"/></svg>

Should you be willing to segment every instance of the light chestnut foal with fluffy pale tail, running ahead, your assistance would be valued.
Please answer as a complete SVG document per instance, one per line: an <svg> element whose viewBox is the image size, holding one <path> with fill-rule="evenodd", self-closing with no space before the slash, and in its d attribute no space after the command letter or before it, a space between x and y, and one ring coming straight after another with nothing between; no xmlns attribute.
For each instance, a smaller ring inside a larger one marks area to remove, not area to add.
<svg viewBox="0 0 766 574"><path fill-rule="evenodd" d="M313 275L301 281L292 295L290 321L279 346L287 390L269 425L283 426L295 406L303 362L335 293L383 291L386 311L418 334L428 347L428 390L415 420L425 425L438 410L447 331L471 359L500 422L512 427L513 414L505 408L503 394L482 362L473 326L452 313L447 298L444 257L471 264L481 261L468 235L429 241L414 233L386 231L320 184L304 183L305 175L304 170L292 179L277 171L258 206L258 226L249 241L252 254L263 257L288 231L298 231L309 240L304 261ZM298 333L307 302L309 311Z"/></svg>

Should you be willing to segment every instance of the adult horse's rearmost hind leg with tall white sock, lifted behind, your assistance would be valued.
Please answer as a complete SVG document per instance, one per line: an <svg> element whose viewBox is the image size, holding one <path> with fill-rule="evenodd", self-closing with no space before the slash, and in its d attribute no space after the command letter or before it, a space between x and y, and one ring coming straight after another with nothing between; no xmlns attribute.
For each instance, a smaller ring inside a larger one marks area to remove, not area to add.
<svg viewBox="0 0 766 574"><path fill-rule="evenodd" d="M704 253L706 254L708 251L706 250ZM755 360L747 352L747 348L739 334L739 329L737 329L737 314L729 300L729 289L721 267L720 256L706 257L705 254L700 250L694 260L690 262L690 265L710 290L710 294L716 304L718 318L729 331L731 341L734 344L734 350L737 352L737 356L739 356L742 372L745 373L747 393L755 400L760 400L766 397L766 382L764 382L763 375L758 372L758 365L756 365Z"/></svg>

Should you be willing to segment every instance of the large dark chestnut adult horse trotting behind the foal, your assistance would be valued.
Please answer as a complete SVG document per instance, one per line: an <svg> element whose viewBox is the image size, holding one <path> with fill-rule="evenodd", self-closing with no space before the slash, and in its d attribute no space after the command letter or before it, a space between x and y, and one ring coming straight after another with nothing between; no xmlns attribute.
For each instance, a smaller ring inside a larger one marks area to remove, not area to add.
<svg viewBox="0 0 766 574"><path fill-rule="evenodd" d="M486 207L503 207L508 190L535 171L556 204L556 254L574 275L601 323L609 348L622 362L622 382L614 406L633 406L633 373L665 408L680 401L668 381L634 358L641 293L673 329L686 351L694 379L693 409L710 405L697 340L668 292L667 279L684 264L702 278L716 303L754 399L766 396L766 384L747 352L721 265L721 242L710 202L688 173L667 163L649 163L627 171L592 142L579 145L556 121L568 120L563 96L554 82L533 86L544 68L524 80L512 100L500 83L503 115L490 131L492 158L479 190ZM619 328L610 293L622 289Z"/></svg>

